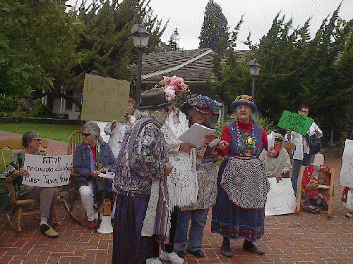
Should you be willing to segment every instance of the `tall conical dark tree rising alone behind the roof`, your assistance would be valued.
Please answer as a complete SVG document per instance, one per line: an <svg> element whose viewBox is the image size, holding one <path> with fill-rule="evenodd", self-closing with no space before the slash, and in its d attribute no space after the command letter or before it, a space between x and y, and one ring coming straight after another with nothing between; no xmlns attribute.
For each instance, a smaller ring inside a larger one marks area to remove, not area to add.
<svg viewBox="0 0 353 264"><path fill-rule="evenodd" d="M221 38L227 39L229 27L222 8L213 0L209 0L205 8L203 25L201 28L200 48L210 48L215 50Z"/></svg>

